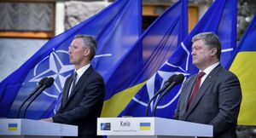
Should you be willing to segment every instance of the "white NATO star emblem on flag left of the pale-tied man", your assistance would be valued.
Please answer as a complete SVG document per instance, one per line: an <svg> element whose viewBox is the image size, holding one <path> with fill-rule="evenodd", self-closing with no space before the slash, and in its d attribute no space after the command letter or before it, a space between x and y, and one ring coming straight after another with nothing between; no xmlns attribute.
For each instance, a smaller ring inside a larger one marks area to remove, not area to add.
<svg viewBox="0 0 256 138"><path fill-rule="evenodd" d="M56 108L55 106L57 105L55 105L55 103L58 101L58 97L62 92L61 89L64 86L66 78L73 72L73 69L73 65L70 65L69 63L67 50L53 49L48 56L39 61L38 64L28 73L24 83L22 83L20 92L16 96L14 104L11 107L9 117L15 117L19 103L22 102L28 93L32 91L32 89L28 88L36 88L37 82L42 78L52 77L55 78L53 86L49 87L49 89L45 89L30 108L28 108L30 110L27 111L28 118L43 118L49 116L49 114L45 114L45 111L52 111Z"/></svg>

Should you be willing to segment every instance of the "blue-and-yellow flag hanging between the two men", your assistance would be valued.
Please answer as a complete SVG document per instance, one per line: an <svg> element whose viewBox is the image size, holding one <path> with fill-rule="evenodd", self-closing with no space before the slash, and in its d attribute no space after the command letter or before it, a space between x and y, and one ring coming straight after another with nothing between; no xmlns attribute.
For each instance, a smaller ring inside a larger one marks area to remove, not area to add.
<svg viewBox="0 0 256 138"><path fill-rule="evenodd" d="M108 73L102 117L117 117L182 42L188 33L187 4L180 0L160 15Z"/></svg>

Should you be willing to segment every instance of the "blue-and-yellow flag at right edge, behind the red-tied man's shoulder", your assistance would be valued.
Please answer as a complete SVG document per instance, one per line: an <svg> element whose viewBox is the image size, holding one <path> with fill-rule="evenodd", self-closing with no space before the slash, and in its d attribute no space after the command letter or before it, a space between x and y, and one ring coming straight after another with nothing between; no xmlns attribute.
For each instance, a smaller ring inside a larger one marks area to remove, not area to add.
<svg viewBox="0 0 256 138"><path fill-rule="evenodd" d="M256 125L256 14L247 32L242 37L236 54L234 55L230 71L234 72L241 83L241 108L238 116L238 124Z"/></svg>

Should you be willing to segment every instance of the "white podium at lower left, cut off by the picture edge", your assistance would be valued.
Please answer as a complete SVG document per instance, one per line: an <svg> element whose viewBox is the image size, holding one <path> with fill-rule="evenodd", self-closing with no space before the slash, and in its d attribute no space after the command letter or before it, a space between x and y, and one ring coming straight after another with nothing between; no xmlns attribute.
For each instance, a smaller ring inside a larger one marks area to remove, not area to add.
<svg viewBox="0 0 256 138"><path fill-rule="evenodd" d="M0 118L1 138L59 138L77 136L78 126L40 120Z"/></svg>

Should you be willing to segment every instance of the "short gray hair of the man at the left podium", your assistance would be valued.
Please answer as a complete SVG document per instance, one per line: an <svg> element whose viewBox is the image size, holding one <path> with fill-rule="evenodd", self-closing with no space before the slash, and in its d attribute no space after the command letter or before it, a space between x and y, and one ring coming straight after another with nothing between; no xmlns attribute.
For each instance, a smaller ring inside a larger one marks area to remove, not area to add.
<svg viewBox="0 0 256 138"><path fill-rule="evenodd" d="M94 58L96 55L96 49L97 49L97 43L95 37L89 36L89 35L76 35L75 38L81 38L84 48L89 48L90 49L90 60Z"/></svg>

